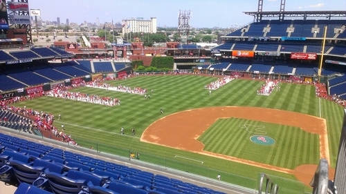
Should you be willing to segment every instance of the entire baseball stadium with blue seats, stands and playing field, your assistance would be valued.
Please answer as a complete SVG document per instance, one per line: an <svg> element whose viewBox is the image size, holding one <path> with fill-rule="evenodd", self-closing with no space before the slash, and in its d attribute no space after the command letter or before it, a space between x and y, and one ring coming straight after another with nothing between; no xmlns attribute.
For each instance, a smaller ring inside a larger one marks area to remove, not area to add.
<svg viewBox="0 0 346 194"><path fill-rule="evenodd" d="M212 48L189 43L185 19L185 41L90 50L33 46L30 23L10 21L28 0L7 4L1 193L346 192L346 11L259 0Z"/></svg>

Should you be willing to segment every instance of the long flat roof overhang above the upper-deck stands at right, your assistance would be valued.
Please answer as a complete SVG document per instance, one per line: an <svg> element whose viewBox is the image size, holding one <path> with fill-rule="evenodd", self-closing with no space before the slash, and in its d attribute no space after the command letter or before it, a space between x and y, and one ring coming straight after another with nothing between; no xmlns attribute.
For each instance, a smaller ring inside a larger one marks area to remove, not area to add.
<svg viewBox="0 0 346 194"><path fill-rule="evenodd" d="M326 17L331 19L333 17L346 17L346 11L344 10L330 10L330 11L285 11L285 12L244 12L245 14L251 15L255 18L255 21L261 21L263 18L275 18L284 19L285 17Z"/></svg>

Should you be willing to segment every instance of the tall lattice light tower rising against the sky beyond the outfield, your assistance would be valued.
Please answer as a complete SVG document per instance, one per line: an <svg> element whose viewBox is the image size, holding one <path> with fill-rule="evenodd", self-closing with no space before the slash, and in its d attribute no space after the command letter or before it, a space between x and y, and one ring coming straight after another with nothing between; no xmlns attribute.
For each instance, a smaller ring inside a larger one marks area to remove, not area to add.
<svg viewBox="0 0 346 194"><path fill-rule="evenodd" d="M179 10L178 14L178 36L181 43L188 43L190 30L190 18L192 18L191 10Z"/></svg>

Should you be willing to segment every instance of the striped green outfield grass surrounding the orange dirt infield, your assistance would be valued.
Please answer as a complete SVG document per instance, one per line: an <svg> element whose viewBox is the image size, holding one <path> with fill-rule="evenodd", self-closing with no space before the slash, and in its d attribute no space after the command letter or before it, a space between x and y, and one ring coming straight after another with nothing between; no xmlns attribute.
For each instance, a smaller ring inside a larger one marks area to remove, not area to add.
<svg viewBox="0 0 346 194"><path fill-rule="evenodd" d="M134 77L123 81L109 81L113 85L122 84L123 86L147 88L149 91L153 89L154 94L150 94L151 99L147 100L140 95L97 88L76 88L73 90L81 93L117 97L121 101L121 106L109 107L54 97L40 97L30 101L23 101L16 106L26 106L27 108L53 113L53 115L61 114L62 120L56 121L55 124L60 126L60 124L64 123L65 132L71 134L73 139L81 146L93 148L99 146L104 152L120 155L127 154L129 150L136 151L142 153L141 159L145 161L155 164L174 164L175 168L212 178L215 178L217 171L222 171L225 174L223 175L224 181L250 188L255 188L255 182L246 180L239 182L241 179L235 180L235 177L231 174L256 179L257 173L263 172L294 180L293 175L139 141L143 130L152 122L165 115L191 108L258 106L291 110L315 116L320 115L319 100L315 97L315 88L313 86L281 84L281 91L273 91L270 96L262 96L256 95L256 90L264 84L264 81L236 79L226 84L226 86L212 91L212 95L209 95L208 90L205 90L203 86L216 79L216 77L181 75ZM159 113L161 107L165 112L164 114ZM343 117L342 110L343 108L331 101L324 99L321 101L321 115L327 119L330 163L333 167L336 164L336 153ZM120 135L121 127L125 128L125 135ZM130 135L131 128L136 129L134 137ZM191 161L179 162L174 157L175 155L201 160L203 164L196 164ZM296 157L300 158L302 156L296 155ZM316 156L313 154L312 158L315 159ZM167 163L167 161L178 162ZM300 162L302 161L303 159L300 160ZM298 165L300 162L294 165ZM314 164L317 164L317 162L313 161ZM275 164L280 163L275 162ZM175 164L180 165L177 166Z"/></svg>

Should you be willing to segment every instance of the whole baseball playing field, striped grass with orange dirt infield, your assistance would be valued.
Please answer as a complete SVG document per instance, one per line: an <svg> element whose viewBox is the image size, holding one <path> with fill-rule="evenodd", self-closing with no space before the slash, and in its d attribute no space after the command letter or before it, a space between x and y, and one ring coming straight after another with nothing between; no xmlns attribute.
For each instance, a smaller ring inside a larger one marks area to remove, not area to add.
<svg viewBox="0 0 346 194"><path fill-rule="evenodd" d="M258 173L267 173L282 192L300 193L309 190L309 173L321 157L335 168L343 108L316 97L314 86L280 84L280 91L263 96L256 91L264 81L235 79L210 95L204 86L215 80L194 75L133 77L108 83L146 88L150 99L75 88L118 98L121 105L39 97L16 106L62 115L55 126L64 124L65 133L80 146L122 156L140 153L145 162L210 178L220 173L222 181L248 188L256 187Z"/></svg>

